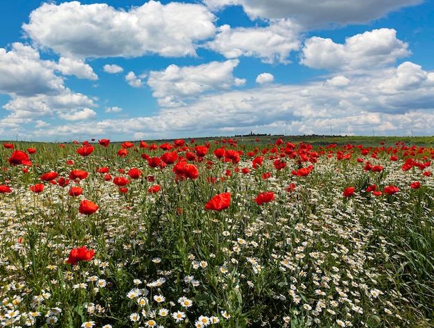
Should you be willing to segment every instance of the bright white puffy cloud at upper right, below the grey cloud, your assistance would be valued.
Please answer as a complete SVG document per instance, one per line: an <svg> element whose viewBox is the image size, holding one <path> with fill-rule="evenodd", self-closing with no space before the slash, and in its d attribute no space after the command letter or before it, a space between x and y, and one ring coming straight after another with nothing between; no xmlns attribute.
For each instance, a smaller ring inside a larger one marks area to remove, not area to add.
<svg viewBox="0 0 434 328"><path fill-rule="evenodd" d="M304 42L300 63L331 71L385 67L394 64L397 58L410 55L408 44L396 35L394 29L381 28L347 37L345 44L311 37Z"/></svg>

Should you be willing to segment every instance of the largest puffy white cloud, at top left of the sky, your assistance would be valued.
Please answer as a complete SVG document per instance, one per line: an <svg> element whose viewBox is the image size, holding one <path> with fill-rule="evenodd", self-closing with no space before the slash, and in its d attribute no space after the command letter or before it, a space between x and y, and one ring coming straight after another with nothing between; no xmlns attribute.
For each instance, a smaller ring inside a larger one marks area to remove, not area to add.
<svg viewBox="0 0 434 328"><path fill-rule="evenodd" d="M148 1L130 10L106 3L43 3L22 27L42 48L68 58L196 55L216 17L200 4Z"/></svg>

